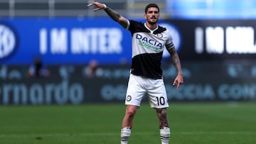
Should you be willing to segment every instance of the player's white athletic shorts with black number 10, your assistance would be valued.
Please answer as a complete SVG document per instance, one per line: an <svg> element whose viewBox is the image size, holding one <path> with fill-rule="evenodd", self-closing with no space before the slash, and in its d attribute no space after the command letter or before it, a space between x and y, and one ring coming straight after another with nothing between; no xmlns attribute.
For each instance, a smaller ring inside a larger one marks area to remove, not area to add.
<svg viewBox="0 0 256 144"><path fill-rule="evenodd" d="M151 108L169 107L164 79L149 79L129 74L125 105L140 106L144 96L148 96Z"/></svg>

